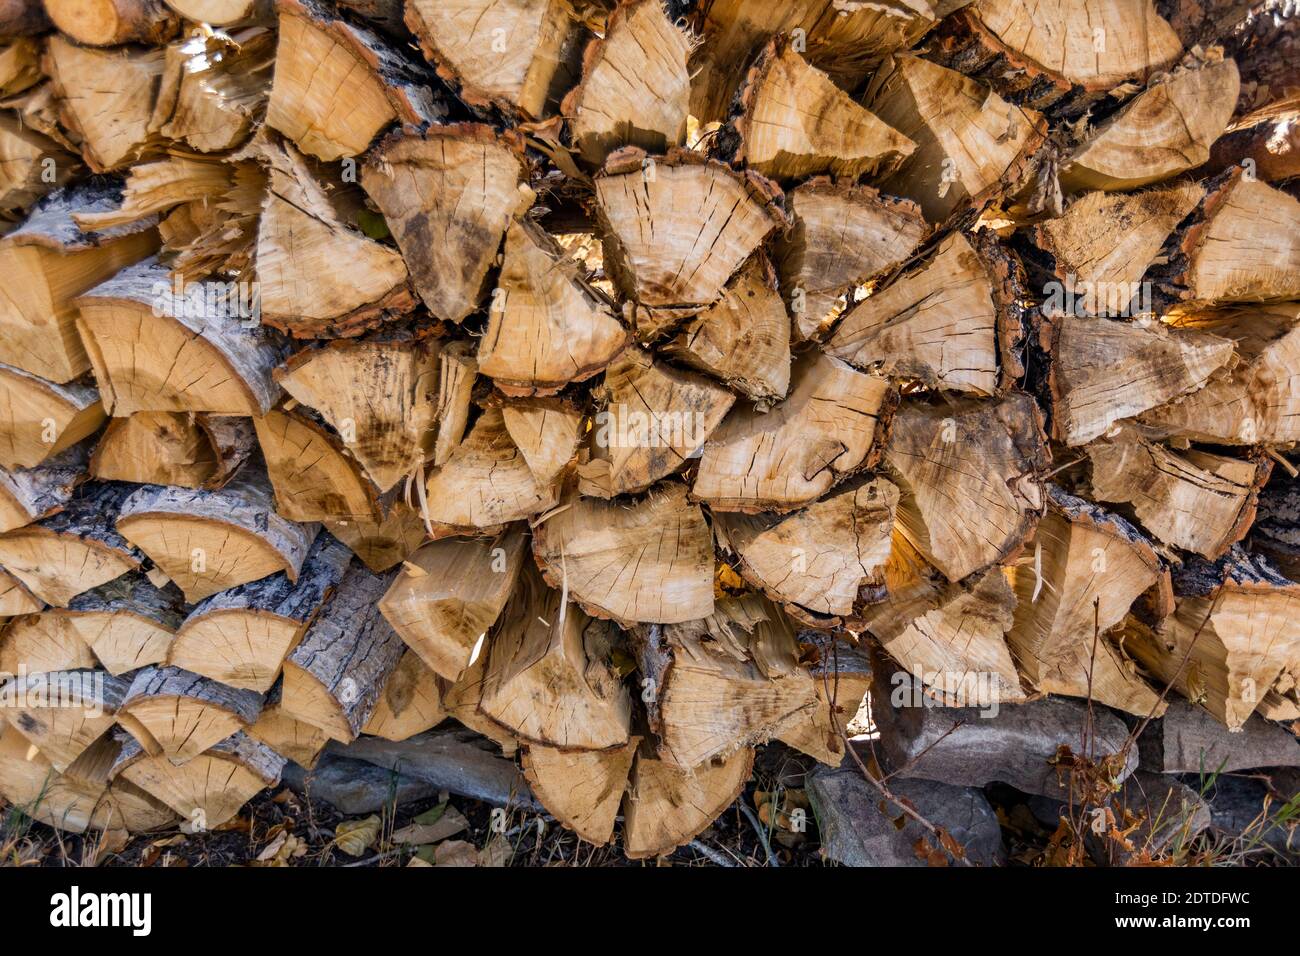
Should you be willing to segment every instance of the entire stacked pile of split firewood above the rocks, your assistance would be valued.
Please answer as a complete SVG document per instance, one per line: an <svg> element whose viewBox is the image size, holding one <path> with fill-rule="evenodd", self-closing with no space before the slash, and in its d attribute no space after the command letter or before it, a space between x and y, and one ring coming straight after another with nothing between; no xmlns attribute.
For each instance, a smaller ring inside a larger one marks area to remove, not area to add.
<svg viewBox="0 0 1300 956"><path fill-rule="evenodd" d="M653 857L872 663L1296 721L1294 14L0 0L0 793L454 719Z"/></svg>

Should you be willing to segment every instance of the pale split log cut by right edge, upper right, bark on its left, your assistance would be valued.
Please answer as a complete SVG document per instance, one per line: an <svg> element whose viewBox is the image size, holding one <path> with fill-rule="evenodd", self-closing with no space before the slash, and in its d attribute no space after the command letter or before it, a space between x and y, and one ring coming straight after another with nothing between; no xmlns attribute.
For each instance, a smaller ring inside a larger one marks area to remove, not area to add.
<svg viewBox="0 0 1300 956"><path fill-rule="evenodd" d="M1182 235L1174 285L1190 303L1300 297L1300 200L1235 169Z"/></svg>

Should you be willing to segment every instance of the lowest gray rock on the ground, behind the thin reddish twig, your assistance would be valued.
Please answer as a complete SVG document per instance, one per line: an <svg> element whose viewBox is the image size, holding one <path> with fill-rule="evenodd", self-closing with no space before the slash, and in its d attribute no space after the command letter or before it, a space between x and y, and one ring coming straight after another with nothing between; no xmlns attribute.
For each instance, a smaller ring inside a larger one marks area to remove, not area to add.
<svg viewBox="0 0 1300 956"><path fill-rule="evenodd" d="M984 795L971 787L933 780L890 780L889 790L913 803L916 812L941 826L966 848L971 862L992 866L1006 860L997 814ZM913 848L932 838L915 821L900 830L902 810L885 803L857 767L818 767L807 782L826 855L845 866L926 866Z"/></svg>

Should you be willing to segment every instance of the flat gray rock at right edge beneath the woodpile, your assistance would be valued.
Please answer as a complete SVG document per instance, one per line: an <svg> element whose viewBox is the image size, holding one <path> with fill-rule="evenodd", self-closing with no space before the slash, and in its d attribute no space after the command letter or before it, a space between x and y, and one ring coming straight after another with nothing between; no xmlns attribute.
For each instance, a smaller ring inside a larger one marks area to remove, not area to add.
<svg viewBox="0 0 1300 956"><path fill-rule="evenodd" d="M1238 732L1184 700L1138 739L1141 765L1165 774L1231 773L1254 767L1300 766L1300 740L1280 724L1252 717Z"/></svg>

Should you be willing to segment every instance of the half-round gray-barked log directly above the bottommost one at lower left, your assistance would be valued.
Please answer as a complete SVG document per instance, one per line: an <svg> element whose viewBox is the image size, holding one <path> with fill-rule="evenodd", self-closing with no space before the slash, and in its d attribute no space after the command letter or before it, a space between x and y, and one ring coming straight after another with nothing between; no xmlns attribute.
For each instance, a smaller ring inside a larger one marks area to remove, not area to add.
<svg viewBox="0 0 1300 956"><path fill-rule="evenodd" d="M261 695L235 689L179 667L136 671L117 722L151 757L186 763L231 734L247 730L261 711Z"/></svg>

